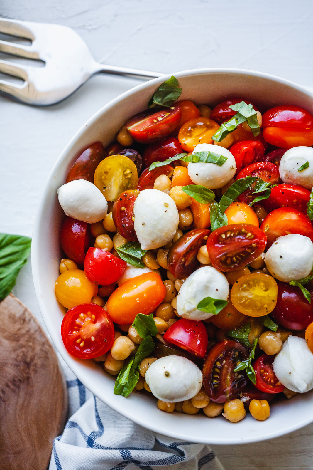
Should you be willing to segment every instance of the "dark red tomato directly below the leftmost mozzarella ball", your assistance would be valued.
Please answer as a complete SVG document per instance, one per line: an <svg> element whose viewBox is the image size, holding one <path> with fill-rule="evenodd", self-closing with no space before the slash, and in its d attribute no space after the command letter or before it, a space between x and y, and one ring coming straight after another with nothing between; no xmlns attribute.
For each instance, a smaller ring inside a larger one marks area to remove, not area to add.
<svg viewBox="0 0 313 470"><path fill-rule="evenodd" d="M90 226L86 222L66 217L61 228L60 243L66 256L82 265L88 248L93 245Z"/></svg>

